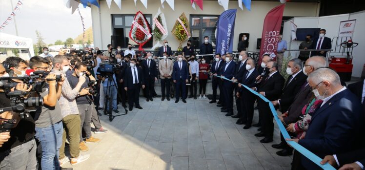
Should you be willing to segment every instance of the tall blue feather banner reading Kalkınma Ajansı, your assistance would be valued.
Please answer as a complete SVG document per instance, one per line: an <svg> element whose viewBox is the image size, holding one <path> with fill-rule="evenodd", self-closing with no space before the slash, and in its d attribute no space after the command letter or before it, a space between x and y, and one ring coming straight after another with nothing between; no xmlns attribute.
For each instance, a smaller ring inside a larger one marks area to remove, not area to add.
<svg viewBox="0 0 365 170"><path fill-rule="evenodd" d="M234 23L237 9L224 11L217 22L216 54L231 53L233 50Z"/></svg>

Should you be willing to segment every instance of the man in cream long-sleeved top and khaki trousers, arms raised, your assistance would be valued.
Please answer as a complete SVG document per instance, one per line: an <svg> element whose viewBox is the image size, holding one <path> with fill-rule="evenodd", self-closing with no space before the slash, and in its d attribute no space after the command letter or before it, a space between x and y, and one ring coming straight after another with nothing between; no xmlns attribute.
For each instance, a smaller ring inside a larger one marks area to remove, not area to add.
<svg viewBox="0 0 365 170"><path fill-rule="evenodd" d="M53 58L53 73L57 75L62 75L65 77L65 72L68 70L68 60L66 57L62 55L57 55ZM89 92L89 89L83 88L81 91L81 86L85 82L85 75L80 76L79 83L75 86L75 88L71 88L67 78L64 78L65 81L62 85L61 97L59 99L61 106L61 115L62 115L62 123L63 123L63 135L62 135L62 146L60 149L60 162L65 163L68 161L68 158L64 155L64 147L66 142L66 132L69 137L70 142L70 154L71 154L71 165L78 164L87 160L90 155L81 155L80 154L80 116L79 110L76 104L75 98L80 95L85 95Z"/></svg>

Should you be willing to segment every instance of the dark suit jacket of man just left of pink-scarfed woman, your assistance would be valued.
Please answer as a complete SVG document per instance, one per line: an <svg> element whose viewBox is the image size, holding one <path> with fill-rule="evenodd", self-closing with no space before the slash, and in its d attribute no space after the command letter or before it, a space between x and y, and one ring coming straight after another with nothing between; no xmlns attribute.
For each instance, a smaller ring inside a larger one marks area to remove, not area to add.
<svg viewBox="0 0 365 170"><path fill-rule="evenodd" d="M284 123L286 125L300 120L300 116L302 116L302 108L308 104L309 100L314 96L310 86L306 84L307 82L305 81L299 92L295 95L293 103L288 108L288 116L284 117Z"/></svg>

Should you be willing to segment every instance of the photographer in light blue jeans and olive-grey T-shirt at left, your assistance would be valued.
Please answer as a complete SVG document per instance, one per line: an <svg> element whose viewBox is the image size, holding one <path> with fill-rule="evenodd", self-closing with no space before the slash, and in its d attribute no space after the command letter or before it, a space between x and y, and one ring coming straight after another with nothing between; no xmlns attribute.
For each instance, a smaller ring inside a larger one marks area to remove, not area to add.
<svg viewBox="0 0 365 170"><path fill-rule="evenodd" d="M29 66L35 71L50 71L52 68L46 59L39 56L32 57ZM43 106L37 107L34 121L37 132L35 137L40 142L42 149L41 168L49 170L53 167L60 167L58 157L62 144L63 126L58 99L61 95L63 79L56 83L56 75L49 73L45 81L47 83L45 90L38 93L39 96L43 97Z"/></svg>

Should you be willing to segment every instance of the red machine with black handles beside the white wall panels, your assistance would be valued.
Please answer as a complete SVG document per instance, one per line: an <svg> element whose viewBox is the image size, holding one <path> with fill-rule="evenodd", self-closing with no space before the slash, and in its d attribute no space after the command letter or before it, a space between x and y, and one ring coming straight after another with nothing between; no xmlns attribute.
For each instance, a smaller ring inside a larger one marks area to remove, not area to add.
<svg viewBox="0 0 365 170"><path fill-rule="evenodd" d="M359 43L353 43L352 40L344 41L343 43L340 43L340 49L339 51L342 51L342 53L345 52L347 56L331 56L329 61L329 67L336 70L337 74L340 76L340 78L343 81L350 81L351 75L352 75L352 50L354 47L359 45ZM343 47L341 49L341 47ZM335 49L336 51L336 49Z"/></svg>

